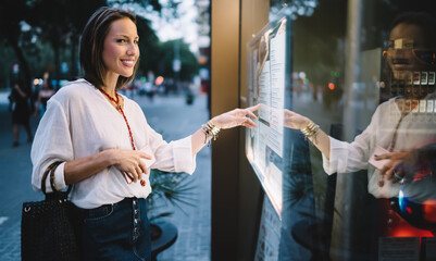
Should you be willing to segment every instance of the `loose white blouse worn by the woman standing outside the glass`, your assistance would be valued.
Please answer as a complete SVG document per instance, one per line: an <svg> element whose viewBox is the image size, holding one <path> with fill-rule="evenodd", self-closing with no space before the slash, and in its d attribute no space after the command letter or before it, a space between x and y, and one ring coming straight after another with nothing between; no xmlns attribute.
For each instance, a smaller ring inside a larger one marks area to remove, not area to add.
<svg viewBox="0 0 436 261"><path fill-rule="evenodd" d="M191 137L167 144L148 125L141 108L127 97L122 98L135 146L153 157L152 161L146 162L147 166L192 174L196 157L191 152ZM52 162L72 161L107 149L132 150L123 115L87 80L70 83L49 100L35 134L30 152L34 189L41 189L42 174ZM63 169L64 163L58 166L54 174L58 189L65 188ZM126 197L147 198L151 192L149 174L144 175L144 179L145 187L139 182L127 184L123 174L110 166L75 184L71 200L79 208L92 209L119 202ZM46 188L51 191L49 181Z"/></svg>

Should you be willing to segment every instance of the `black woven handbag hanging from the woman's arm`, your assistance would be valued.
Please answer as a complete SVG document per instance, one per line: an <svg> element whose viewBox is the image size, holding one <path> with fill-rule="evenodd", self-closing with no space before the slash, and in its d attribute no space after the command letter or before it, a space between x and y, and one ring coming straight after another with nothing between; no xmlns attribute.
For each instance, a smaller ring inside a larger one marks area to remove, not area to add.
<svg viewBox="0 0 436 261"><path fill-rule="evenodd" d="M41 189L46 199L24 202L22 210L22 260L73 261L80 259L79 236L75 233L75 206L68 201L71 191L57 191L52 184L55 167L51 164L42 176ZM46 178L50 173L53 192L46 194Z"/></svg>

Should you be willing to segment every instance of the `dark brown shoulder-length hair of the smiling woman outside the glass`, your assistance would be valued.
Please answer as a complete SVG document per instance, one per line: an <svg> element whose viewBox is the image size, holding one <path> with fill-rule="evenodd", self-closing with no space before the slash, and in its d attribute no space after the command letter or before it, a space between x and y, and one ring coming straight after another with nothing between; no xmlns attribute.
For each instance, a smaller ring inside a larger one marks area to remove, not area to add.
<svg viewBox="0 0 436 261"><path fill-rule="evenodd" d="M104 86L107 69L102 59L104 38L109 33L112 22L129 18L136 24L136 16L129 11L103 7L97 10L88 20L82 33L80 39L80 64L85 72L85 78L96 87ZM116 88L123 88L135 77L139 61L136 62L134 73L130 77L119 77Z"/></svg>

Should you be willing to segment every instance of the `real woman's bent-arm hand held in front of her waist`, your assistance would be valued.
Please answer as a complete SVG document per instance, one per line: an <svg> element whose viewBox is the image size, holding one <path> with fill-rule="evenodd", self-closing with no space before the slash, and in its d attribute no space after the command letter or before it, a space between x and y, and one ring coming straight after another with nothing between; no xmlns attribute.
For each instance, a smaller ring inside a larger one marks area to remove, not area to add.
<svg viewBox="0 0 436 261"><path fill-rule="evenodd" d="M152 157L144 151L111 149L111 162L122 173L128 173L134 182L141 179L142 173L147 174L148 169L144 160L151 160Z"/></svg>

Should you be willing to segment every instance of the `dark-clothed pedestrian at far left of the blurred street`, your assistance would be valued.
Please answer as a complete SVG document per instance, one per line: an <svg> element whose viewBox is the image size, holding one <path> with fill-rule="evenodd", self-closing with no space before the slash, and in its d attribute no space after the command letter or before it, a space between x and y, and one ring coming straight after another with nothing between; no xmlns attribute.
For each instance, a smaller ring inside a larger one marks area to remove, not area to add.
<svg viewBox="0 0 436 261"><path fill-rule="evenodd" d="M13 84L10 99L10 111L12 112L12 132L14 141L12 147L20 146L20 125L23 125L27 133L27 141L32 142L30 130L30 108L28 104L29 90L24 87L23 82L16 80Z"/></svg>

